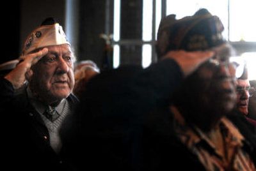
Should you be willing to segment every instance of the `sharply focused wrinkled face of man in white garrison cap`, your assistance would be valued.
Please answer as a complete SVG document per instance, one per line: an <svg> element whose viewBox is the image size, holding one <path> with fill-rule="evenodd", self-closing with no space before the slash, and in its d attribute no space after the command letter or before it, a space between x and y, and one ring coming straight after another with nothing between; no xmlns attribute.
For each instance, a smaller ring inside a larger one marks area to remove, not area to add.
<svg viewBox="0 0 256 171"><path fill-rule="evenodd" d="M48 54L32 67L29 86L35 96L50 105L67 98L72 92L74 56L67 44L47 48Z"/></svg>

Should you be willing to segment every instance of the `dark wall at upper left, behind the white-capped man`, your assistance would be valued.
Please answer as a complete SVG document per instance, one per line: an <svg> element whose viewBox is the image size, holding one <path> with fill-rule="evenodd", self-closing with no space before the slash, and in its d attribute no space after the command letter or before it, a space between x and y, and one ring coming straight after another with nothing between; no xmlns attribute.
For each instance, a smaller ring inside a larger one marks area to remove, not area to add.
<svg viewBox="0 0 256 171"><path fill-rule="evenodd" d="M0 14L3 45L0 63L17 59L28 34L45 18L55 17L65 29L65 0L4 1Z"/></svg>

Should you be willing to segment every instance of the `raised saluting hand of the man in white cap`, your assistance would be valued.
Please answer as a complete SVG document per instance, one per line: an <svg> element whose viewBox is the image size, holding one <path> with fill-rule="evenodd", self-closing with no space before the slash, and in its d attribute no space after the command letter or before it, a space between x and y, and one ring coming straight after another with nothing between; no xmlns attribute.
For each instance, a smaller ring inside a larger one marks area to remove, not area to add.
<svg viewBox="0 0 256 171"><path fill-rule="evenodd" d="M47 52L48 48L43 48L33 54L20 57L20 63L4 78L12 83L14 89L19 89L24 84L26 78L30 78L33 74L33 71L30 69L31 66L37 63Z"/></svg>

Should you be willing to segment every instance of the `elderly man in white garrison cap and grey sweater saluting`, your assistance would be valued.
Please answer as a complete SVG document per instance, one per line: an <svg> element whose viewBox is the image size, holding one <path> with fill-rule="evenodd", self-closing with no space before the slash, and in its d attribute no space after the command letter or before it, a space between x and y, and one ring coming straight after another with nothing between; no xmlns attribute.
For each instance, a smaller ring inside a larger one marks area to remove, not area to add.
<svg viewBox="0 0 256 171"><path fill-rule="evenodd" d="M68 170L59 131L78 102L71 93L74 60L62 27L49 18L29 34L20 63L0 80L9 168Z"/></svg>

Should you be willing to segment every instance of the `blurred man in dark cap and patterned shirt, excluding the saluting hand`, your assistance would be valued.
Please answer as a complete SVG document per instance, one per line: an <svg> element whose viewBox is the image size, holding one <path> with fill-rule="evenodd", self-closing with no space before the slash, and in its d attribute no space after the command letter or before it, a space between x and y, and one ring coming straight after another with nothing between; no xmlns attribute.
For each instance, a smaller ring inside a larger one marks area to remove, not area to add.
<svg viewBox="0 0 256 171"><path fill-rule="evenodd" d="M150 112L141 145L145 170L255 170L255 130L233 113L236 75L229 57L234 49L222 31L220 19L205 9L161 21L159 54L186 49L213 50L215 56L184 80L168 107Z"/></svg>

